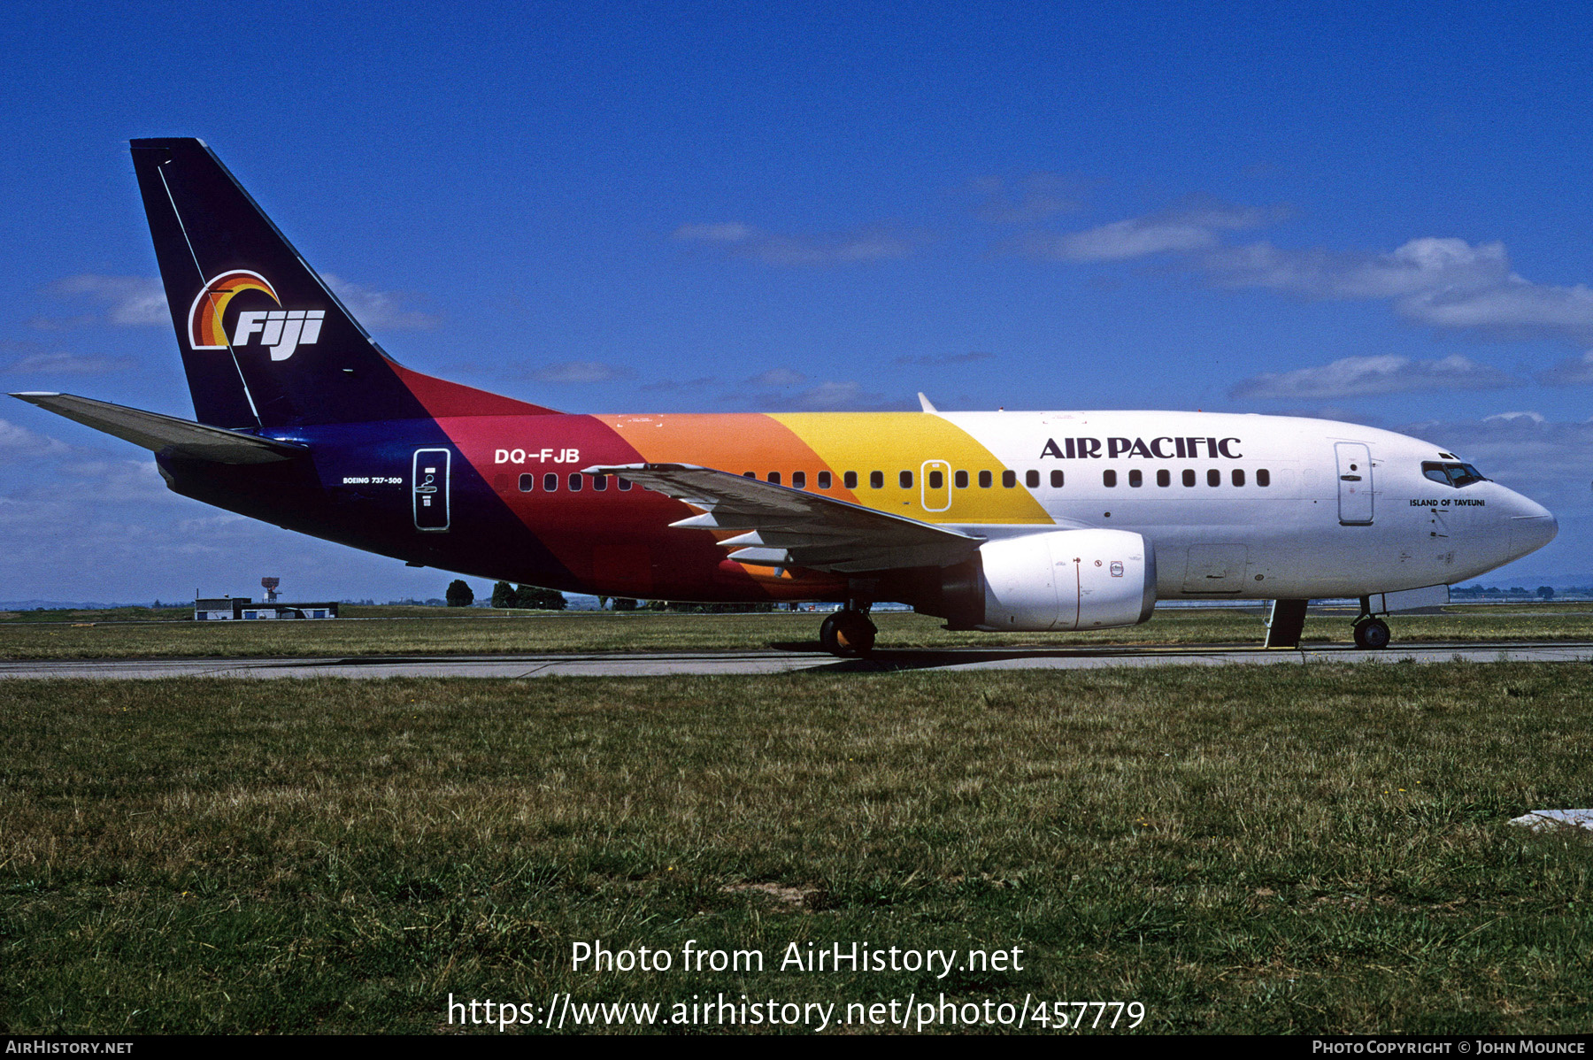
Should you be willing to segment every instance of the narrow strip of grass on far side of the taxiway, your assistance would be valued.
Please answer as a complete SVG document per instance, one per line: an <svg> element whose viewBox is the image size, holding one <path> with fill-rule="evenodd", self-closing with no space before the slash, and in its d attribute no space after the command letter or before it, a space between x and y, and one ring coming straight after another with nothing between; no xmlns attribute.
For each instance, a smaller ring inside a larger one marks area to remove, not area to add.
<svg viewBox="0 0 1593 1060"><path fill-rule="evenodd" d="M129 659L255 656L519 654L588 651L763 651L771 645L817 649L812 613L658 614L612 611L503 613L409 608L350 622L0 622L0 659ZM350 618L366 611L346 608ZM21 613L25 616L27 613ZM1306 619L1306 643L1349 643L1349 613ZM879 648L1067 646L1067 645L1258 645L1258 611L1163 608L1144 625L1080 633L948 633L941 621L879 613ZM1443 614L1395 614L1397 643L1466 640L1593 640L1593 605L1451 606Z"/></svg>

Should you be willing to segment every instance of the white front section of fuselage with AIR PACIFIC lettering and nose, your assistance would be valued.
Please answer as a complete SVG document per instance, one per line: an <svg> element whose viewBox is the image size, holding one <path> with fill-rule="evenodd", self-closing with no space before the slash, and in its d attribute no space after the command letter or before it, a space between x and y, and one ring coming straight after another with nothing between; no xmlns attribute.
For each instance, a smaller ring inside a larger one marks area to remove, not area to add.
<svg viewBox="0 0 1593 1060"><path fill-rule="evenodd" d="M1544 506L1497 482L1426 477L1423 463L1459 457L1372 427L1209 412L941 415L1016 470L1020 485L1037 471L1029 493L1058 527L1144 535L1163 600L1454 584L1542 548L1558 528ZM1063 473L1056 487L1051 471Z"/></svg>

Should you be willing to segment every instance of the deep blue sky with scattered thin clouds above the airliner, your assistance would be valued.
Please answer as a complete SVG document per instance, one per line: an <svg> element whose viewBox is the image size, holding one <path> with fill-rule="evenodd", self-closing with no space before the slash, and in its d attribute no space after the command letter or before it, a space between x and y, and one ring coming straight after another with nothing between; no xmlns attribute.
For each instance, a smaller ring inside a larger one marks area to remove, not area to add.
<svg viewBox="0 0 1593 1060"><path fill-rule="evenodd" d="M0 385L191 415L126 140L202 137L397 358L570 411L1198 407L1427 438L1593 581L1593 11L0 13ZM0 409L0 598L441 595ZM476 584L478 590L486 583Z"/></svg>

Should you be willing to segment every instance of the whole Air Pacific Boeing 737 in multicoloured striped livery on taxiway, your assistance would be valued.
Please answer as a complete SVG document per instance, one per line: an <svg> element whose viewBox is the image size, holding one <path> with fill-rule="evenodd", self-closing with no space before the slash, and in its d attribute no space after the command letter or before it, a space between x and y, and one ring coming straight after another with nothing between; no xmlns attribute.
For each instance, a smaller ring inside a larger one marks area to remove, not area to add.
<svg viewBox="0 0 1593 1060"><path fill-rule="evenodd" d="M564 592L828 602L838 656L900 602L954 630L1093 630L1163 600L1384 614L1553 540L1432 442L1209 412L588 415L390 358L196 138L132 140L194 420L13 395L153 450L194 500L357 549Z"/></svg>

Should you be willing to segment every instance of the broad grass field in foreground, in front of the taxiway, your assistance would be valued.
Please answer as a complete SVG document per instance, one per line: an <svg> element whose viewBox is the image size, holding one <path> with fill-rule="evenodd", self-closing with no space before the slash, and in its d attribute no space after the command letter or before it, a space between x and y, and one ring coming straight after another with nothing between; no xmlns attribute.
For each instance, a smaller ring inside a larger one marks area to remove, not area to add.
<svg viewBox="0 0 1593 1060"><path fill-rule="evenodd" d="M1593 804L1590 702L1577 664L6 681L0 1030L723 992L1587 1033L1593 836L1505 821ZM594 939L769 963L572 969ZM777 968L854 941L1023 969Z"/></svg>

